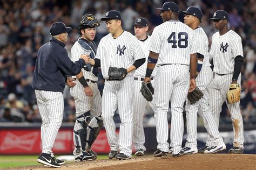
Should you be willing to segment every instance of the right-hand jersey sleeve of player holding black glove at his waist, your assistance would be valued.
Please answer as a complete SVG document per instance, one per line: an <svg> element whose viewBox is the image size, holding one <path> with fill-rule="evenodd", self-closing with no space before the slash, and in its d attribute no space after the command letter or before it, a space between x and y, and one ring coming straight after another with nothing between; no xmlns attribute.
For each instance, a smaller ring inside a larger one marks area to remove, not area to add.
<svg viewBox="0 0 256 170"><path fill-rule="evenodd" d="M131 53L134 60L146 58L142 45L134 37L131 38Z"/></svg>

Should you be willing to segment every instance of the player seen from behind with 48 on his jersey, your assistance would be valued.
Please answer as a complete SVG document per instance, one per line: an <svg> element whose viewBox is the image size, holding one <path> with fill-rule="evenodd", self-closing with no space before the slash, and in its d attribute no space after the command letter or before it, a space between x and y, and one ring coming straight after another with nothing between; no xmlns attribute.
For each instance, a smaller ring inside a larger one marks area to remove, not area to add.
<svg viewBox="0 0 256 170"><path fill-rule="evenodd" d="M179 6L176 3L166 2L158 10L161 10L164 23L155 27L152 33L144 79L145 83L150 81L151 73L158 62L158 72L154 80L158 146L153 155L161 157L169 151L167 111L171 100L172 154L173 157L179 157L184 154L181 151L184 131L183 104L188 90L196 88L197 46L193 30L178 21Z"/></svg>

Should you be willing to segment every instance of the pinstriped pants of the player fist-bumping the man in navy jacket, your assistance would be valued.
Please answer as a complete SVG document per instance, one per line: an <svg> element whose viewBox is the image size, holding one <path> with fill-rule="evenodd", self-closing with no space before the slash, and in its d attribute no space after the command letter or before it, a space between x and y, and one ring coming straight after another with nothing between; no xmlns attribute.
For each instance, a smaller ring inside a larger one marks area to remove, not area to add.
<svg viewBox="0 0 256 170"><path fill-rule="evenodd" d="M105 81L102 96L102 119L106 129L110 150L132 154L132 110L134 96L133 76L127 76L122 81ZM116 125L113 121L114 112L118 107L121 119L119 140Z"/></svg>

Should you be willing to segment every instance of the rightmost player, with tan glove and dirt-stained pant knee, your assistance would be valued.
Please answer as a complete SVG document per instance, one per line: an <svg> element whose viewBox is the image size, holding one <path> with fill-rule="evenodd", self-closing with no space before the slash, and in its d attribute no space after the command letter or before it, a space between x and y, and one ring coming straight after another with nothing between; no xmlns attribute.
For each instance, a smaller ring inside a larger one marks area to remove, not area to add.
<svg viewBox="0 0 256 170"><path fill-rule="evenodd" d="M244 59L241 37L228 30L228 13L224 10L214 12L213 25L219 30L212 36L210 55L213 57L214 79L211 87L210 105L219 127L221 105L226 102L233 121L234 143L229 153L244 152L244 124L240 112L240 93L238 102L227 101L227 93L241 87L241 67Z"/></svg>

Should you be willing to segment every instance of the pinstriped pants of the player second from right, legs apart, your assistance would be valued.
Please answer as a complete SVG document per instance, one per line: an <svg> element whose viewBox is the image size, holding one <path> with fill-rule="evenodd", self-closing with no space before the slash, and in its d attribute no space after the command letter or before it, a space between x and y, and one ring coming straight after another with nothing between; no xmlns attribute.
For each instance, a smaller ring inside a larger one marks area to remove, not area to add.
<svg viewBox="0 0 256 170"><path fill-rule="evenodd" d="M187 147L197 148L197 113L203 118L205 129L211 137L212 143L208 145L218 146L224 143L209 107L209 93L212 79L213 72L211 67L203 67L196 79L196 84L203 91L204 96L194 104L186 100L187 141L185 146Z"/></svg>

